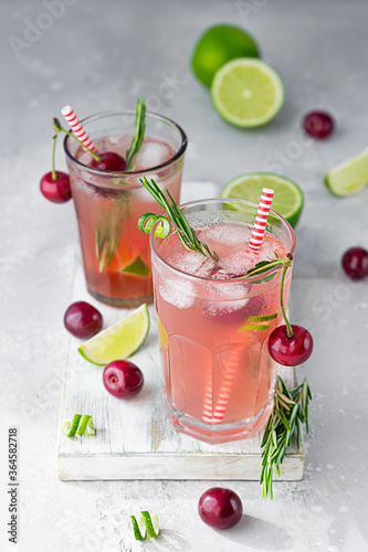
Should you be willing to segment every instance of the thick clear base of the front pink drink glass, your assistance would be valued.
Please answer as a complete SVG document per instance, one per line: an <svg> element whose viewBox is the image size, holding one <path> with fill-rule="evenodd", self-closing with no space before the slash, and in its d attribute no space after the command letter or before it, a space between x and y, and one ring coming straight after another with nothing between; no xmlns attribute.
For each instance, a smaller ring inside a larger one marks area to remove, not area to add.
<svg viewBox="0 0 368 552"><path fill-rule="evenodd" d="M167 397L165 397L166 407L172 420L174 426L178 432L204 440L210 445L218 443L228 443L254 437L266 425L273 407L273 399L252 418L242 420L234 424L211 424L196 420L183 412L172 408Z"/></svg>

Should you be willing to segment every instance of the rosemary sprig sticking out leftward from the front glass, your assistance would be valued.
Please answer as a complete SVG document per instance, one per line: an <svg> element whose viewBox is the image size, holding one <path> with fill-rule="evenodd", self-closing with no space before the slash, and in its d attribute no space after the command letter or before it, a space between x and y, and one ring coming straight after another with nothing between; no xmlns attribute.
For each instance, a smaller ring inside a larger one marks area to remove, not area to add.
<svg viewBox="0 0 368 552"><path fill-rule="evenodd" d="M182 214L178 205L176 204L175 200L172 199L170 192L166 190L166 193L168 194L171 205L169 204L167 198L164 195L161 190L158 188L156 184L155 180L151 180L150 183L148 182L147 178L140 178L140 183L148 190L148 192L153 195L153 198L161 205L162 209L167 212L169 219L174 224L177 226L177 234L179 236L180 242L187 250L190 251L196 251L198 253L201 253L208 258L211 258L212 261L218 262L219 257L215 254L215 252L211 253L208 245L204 243L200 242L196 235L196 232L189 225L186 216ZM146 213L147 217L151 216L153 213ZM144 215L144 216L146 216ZM143 219L143 217L141 217ZM144 222L144 221L143 221ZM143 229L140 229L143 230Z"/></svg>

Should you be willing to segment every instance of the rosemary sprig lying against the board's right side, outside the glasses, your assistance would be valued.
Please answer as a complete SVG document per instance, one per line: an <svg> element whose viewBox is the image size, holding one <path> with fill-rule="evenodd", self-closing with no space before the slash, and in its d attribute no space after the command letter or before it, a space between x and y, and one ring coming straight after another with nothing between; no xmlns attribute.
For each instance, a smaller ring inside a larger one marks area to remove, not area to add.
<svg viewBox="0 0 368 552"><path fill-rule="evenodd" d="M261 445L263 450L260 484L263 486L263 496L270 495L271 500L273 499L273 467L276 468L276 474L280 477L280 466L293 435L296 432L296 444L297 448L299 448L302 439L301 424L305 424L306 433L309 431L309 400L312 401L312 393L306 378L297 388L287 389L287 385L277 375L274 406Z"/></svg>

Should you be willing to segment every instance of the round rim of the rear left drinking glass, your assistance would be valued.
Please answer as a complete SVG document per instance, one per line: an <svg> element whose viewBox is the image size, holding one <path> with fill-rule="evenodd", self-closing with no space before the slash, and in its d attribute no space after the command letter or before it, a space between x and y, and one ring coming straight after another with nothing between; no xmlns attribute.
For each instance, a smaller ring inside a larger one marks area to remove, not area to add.
<svg viewBox="0 0 368 552"><path fill-rule="evenodd" d="M114 116L114 115L115 116L117 116L117 115L133 115L133 116L135 116L135 114L136 114L135 109L101 112L101 113L96 113L95 115L90 115L88 117L85 117L84 119L81 119L81 123L83 125L83 124L87 124L87 123L94 121L94 120L103 118L103 117L108 117L108 116ZM158 171L165 167L169 167L175 161L180 159L180 157L182 157L182 155L185 153L187 146L188 146L187 135L182 130L180 125L175 123L175 120L170 119L169 117L165 117L164 115L159 115L158 113L153 113L153 112L146 112L146 117L149 117L149 118L156 119L156 120L164 120L166 124L169 124L172 127L175 127L181 137L181 145L180 145L178 151L172 157L170 157L170 159L168 159L167 161L164 161L160 164L156 164L155 167L150 167L149 169L139 170L139 171L105 171L105 170L101 170L101 169L95 169L94 167L90 167L88 164L84 164L78 159L75 159L75 157L71 153L71 151L67 147L69 140L72 140L72 138L67 135L65 135L65 138L63 141L65 155L66 155L66 157L69 157L71 159L71 161L76 163L82 169L87 170L92 174L108 176L112 178L144 176L144 174L149 173L149 172Z"/></svg>

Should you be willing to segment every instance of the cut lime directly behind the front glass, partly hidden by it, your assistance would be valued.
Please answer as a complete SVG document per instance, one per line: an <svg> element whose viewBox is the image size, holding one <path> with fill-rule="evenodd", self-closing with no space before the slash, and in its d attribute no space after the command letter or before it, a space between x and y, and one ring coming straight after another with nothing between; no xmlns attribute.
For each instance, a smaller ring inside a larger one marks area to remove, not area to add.
<svg viewBox="0 0 368 552"><path fill-rule="evenodd" d="M292 226L296 226L304 204L304 194L288 178L272 172L241 174L228 182L220 195L259 203L263 188L272 188L275 191L272 201L273 211L286 219Z"/></svg>

